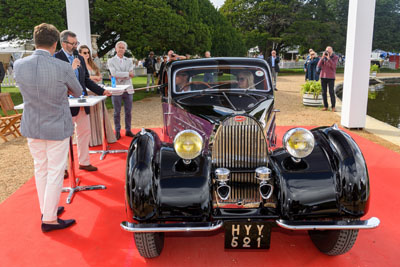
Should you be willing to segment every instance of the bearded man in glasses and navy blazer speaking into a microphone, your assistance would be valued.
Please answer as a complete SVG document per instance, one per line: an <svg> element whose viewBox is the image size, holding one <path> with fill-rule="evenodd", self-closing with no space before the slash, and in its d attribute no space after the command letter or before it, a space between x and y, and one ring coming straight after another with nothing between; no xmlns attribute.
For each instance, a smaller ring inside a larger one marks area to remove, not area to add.
<svg viewBox="0 0 400 267"><path fill-rule="evenodd" d="M60 42L62 49L55 54L55 57L72 65L76 78L81 84L81 94L87 96L86 88L89 88L90 91L97 95L110 96L111 93L109 91L104 90L90 79L85 60L77 52L74 52L79 45L76 34L68 30L62 31L60 34ZM76 125L79 169L97 171L97 167L90 164L89 158L89 113L89 107L71 108L72 121Z"/></svg>

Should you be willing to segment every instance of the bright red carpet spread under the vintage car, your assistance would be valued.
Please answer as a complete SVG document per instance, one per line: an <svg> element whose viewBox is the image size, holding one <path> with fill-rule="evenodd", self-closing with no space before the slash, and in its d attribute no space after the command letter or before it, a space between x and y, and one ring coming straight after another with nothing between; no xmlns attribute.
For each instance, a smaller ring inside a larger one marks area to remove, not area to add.
<svg viewBox="0 0 400 267"><path fill-rule="evenodd" d="M278 127L278 135L289 127ZM367 160L371 206L367 217L381 225L360 231L353 249L342 256L321 254L306 232L273 228L271 249L224 250L223 232L167 234L160 257L147 260L136 250L133 234L119 224L125 220L124 182L126 154L91 154L99 171L77 170L81 185L103 184L106 190L78 192L71 204L61 205L61 218L74 218L69 229L43 234L34 179L0 205L0 266L399 266L400 155L351 134ZM127 149L123 137L111 149ZM280 142L280 141L279 141ZM100 148L100 147L99 147ZM65 186L69 185L68 179Z"/></svg>

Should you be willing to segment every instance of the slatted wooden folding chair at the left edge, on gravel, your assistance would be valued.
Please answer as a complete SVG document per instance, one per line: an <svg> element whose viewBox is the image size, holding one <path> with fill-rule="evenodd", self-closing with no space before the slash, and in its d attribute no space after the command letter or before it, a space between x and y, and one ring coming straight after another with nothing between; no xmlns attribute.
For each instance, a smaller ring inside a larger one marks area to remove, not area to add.
<svg viewBox="0 0 400 267"><path fill-rule="evenodd" d="M21 136L19 127L22 114L19 114L18 111L14 109L14 103L10 93L0 93L0 106L4 113L4 116L0 114L0 137L7 142L6 136L8 135L13 135L14 137ZM11 111L14 111L15 114L11 114Z"/></svg>

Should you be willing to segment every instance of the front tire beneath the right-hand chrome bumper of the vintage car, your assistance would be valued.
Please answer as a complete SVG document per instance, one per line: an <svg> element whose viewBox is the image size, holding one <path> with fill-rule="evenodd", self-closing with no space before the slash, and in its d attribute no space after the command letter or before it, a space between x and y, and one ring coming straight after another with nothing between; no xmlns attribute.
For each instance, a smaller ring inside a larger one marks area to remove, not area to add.
<svg viewBox="0 0 400 267"><path fill-rule="evenodd" d="M311 241L324 254L341 255L349 251L356 242L357 230L308 231Z"/></svg>

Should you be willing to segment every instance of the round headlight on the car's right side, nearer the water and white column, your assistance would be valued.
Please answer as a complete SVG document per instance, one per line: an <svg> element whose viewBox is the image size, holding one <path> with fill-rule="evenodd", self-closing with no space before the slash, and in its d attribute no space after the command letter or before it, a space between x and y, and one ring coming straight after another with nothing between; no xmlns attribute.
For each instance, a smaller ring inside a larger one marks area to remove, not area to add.
<svg viewBox="0 0 400 267"><path fill-rule="evenodd" d="M304 128L293 128L283 136L283 146L295 158L304 158L314 149L314 136Z"/></svg>

